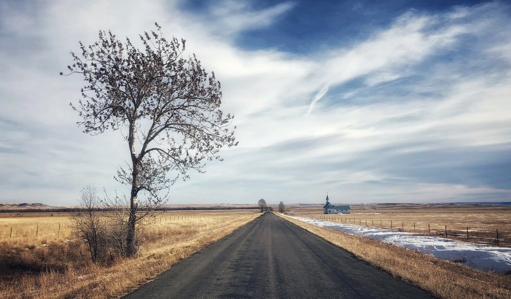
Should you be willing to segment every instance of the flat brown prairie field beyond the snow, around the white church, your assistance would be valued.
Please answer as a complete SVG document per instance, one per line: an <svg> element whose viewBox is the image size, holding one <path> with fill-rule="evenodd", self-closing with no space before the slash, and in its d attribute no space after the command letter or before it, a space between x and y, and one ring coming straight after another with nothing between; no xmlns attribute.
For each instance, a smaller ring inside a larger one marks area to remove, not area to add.
<svg viewBox="0 0 511 299"><path fill-rule="evenodd" d="M322 206L290 206L295 216L398 229L511 247L511 207L474 205L352 205L351 214L324 215ZM498 234L498 239L497 239Z"/></svg>

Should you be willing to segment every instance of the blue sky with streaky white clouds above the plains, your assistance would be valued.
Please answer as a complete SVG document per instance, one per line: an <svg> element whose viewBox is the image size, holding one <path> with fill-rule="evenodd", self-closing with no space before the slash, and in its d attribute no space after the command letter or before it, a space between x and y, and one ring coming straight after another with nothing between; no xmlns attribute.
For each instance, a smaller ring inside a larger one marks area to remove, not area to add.
<svg viewBox="0 0 511 299"><path fill-rule="evenodd" d="M511 201L511 5L398 1L0 2L0 202L75 205L129 159L82 133L59 76L99 30L158 22L222 84L239 145L169 204Z"/></svg>

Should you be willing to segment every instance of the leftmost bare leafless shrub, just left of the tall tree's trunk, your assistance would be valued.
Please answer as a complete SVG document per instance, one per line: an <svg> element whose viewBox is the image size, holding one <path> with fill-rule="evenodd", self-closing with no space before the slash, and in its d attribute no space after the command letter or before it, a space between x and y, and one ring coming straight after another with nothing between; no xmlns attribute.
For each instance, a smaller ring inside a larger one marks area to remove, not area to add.
<svg viewBox="0 0 511 299"><path fill-rule="evenodd" d="M93 262L103 261L107 255L104 219L99 214L101 204L97 189L88 185L80 191L81 209L69 215L78 237L85 240Z"/></svg>

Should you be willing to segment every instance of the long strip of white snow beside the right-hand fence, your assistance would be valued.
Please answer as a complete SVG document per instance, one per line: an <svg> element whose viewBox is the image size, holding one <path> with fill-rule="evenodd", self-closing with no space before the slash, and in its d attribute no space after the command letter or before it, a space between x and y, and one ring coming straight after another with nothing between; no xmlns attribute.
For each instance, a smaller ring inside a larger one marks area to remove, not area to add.
<svg viewBox="0 0 511 299"><path fill-rule="evenodd" d="M365 226L356 226L326 220L310 219L304 217L288 216L300 221L312 223L323 228L341 231L344 233L367 237L429 254L436 258L463 263L467 266L495 270L497 272L511 272L511 248L495 247L482 244L455 241L451 239L416 235Z"/></svg>

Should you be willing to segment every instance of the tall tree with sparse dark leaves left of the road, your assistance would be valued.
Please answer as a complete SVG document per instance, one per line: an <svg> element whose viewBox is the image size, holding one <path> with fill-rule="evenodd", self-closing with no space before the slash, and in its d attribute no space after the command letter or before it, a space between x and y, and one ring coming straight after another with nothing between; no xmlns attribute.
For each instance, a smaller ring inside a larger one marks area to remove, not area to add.
<svg viewBox="0 0 511 299"><path fill-rule="evenodd" d="M141 216L138 195L148 207L166 201L169 187L188 170L202 172L204 161L221 160L223 146L237 144L233 115L219 109L222 93L215 74L208 74L195 55L184 58L183 39L162 36L161 27L140 35L142 49L110 31L99 32L91 45L79 42L68 74L82 74L86 85L73 109L83 119L84 133L120 130L130 154L128 166L117 171L119 182L131 189L126 254L136 251L135 223ZM63 73L61 73L63 74ZM66 74L66 75L68 75ZM172 178L168 173L175 171ZM161 192L166 190L167 192Z"/></svg>

